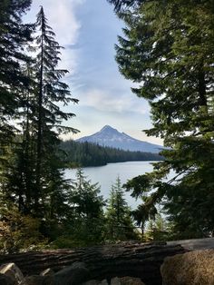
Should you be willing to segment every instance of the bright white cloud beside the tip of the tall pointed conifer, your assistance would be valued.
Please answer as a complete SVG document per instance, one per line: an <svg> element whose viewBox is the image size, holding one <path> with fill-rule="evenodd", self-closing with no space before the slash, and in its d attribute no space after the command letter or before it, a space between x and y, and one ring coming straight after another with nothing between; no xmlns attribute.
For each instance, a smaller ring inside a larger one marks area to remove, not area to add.
<svg viewBox="0 0 214 285"><path fill-rule="evenodd" d="M44 7L48 25L53 28L56 40L66 48L62 52L60 67L74 73L78 64L78 50L72 48L78 42L81 23L76 11L85 0L33 0L31 10L24 18L25 22L34 23L40 6ZM69 47L69 48L68 48Z"/></svg>

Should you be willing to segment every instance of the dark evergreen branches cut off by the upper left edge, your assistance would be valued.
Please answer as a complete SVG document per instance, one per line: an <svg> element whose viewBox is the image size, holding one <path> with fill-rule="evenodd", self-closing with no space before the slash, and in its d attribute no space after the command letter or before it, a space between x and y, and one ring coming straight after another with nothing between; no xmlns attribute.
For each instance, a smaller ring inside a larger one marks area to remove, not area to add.
<svg viewBox="0 0 214 285"><path fill-rule="evenodd" d="M15 133L9 120L17 116L22 90L29 82L21 65L28 61L23 50L31 40L31 25L23 25L21 16L31 0L1 1L0 3L0 143L1 152ZM1 153L0 153L1 154Z"/></svg>

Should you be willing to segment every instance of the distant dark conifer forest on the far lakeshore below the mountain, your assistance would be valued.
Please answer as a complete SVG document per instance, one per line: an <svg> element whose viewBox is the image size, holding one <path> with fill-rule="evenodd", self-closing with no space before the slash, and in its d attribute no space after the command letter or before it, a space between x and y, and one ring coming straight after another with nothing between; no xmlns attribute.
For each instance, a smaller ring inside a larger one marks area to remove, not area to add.
<svg viewBox="0 0 214 285"><path fill-rule="evenodd" d="M65 141L61 143L63 160L67 167L101 166L111 162L160 161L157 153L130 152L96 143Z"/></svg>

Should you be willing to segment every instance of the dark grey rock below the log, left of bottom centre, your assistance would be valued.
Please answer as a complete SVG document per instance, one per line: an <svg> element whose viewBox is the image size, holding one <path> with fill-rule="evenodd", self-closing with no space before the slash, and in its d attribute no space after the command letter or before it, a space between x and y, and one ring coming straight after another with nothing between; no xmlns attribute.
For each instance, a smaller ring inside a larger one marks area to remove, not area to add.
<svg viewBox="0 0 214 285"><path fill-rule="evenodd" d="M54 274L54 285L79 285L87 280L89 270L83 262L75 262L72 266L65 267L63 270Z"/></svg>

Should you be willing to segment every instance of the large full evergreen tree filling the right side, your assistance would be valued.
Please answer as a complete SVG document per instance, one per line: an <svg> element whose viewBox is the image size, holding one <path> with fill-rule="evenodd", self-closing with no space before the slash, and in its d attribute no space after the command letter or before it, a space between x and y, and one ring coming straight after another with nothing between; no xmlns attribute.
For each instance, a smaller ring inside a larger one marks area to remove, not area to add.
<svg viewBox="0 0 214 285"><path fill-rule="evenodd" d="M207 236L214 231L214 3L144 1L122 16L116 60L140 84L133 93L151 104L146 133L169 147L154 172L127 183L134 197L147 196L136 218L141 224L154 217L163 201L178 234ZM175 176L163 182L170 170Z"/></svg>

